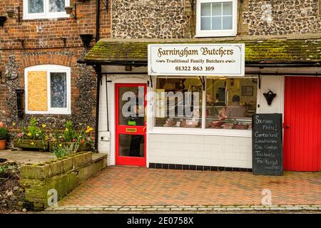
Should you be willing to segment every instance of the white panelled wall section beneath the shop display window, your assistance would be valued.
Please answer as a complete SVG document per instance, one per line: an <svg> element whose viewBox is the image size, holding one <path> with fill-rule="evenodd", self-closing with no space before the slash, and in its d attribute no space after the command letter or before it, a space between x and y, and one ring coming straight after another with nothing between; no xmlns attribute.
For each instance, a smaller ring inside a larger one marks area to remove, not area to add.
<svg viewBox="0 0 321 228"><path fill-rule="evenodd" d="M153 163L252 167L252 138L204 135L149 135Z"/></svg>

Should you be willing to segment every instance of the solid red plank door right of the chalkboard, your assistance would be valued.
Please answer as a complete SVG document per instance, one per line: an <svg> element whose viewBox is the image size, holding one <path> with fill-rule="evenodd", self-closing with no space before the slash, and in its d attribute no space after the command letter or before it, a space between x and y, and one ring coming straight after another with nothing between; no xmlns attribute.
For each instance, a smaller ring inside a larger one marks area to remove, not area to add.
<svg viewBox="0 0 321 228"><path fill-rule="evenodd" d="M321 78L285 77L284 170L321 170Z"/></svg>

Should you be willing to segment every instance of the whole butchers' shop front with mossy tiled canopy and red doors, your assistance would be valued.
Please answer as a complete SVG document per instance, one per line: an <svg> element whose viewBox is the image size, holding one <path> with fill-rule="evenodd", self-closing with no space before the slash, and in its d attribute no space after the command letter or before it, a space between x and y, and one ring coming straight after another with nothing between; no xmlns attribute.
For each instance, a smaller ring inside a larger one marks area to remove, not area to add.
<svg viewBox="0 0 321 228"><path fill-rule="evenodd" d="M252 115L281 113L284 170L321 170L314 60L283 63L293 50L271 53L270 41L173 43L102 40L87 54L101 66L98 149L108 165L251 171Z"/></svg>

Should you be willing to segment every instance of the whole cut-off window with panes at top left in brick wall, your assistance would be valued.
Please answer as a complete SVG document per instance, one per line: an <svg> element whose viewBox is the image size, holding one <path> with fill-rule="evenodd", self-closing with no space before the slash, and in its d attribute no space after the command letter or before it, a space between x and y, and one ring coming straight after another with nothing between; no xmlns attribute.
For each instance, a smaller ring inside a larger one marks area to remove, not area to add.
<svg viewBox="0 0 321 228"><path fill-rule="evenodd" d="M24 19L55 19L68 17L65 7L70 0L24 0Z"/></svg>

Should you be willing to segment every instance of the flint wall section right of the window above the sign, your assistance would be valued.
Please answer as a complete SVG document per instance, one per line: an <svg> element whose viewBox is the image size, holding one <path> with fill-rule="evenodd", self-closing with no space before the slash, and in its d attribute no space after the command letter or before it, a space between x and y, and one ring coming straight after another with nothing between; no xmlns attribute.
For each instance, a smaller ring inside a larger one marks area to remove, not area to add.
<svg viewBox="0 0 321 228"><path fill-rule="evenodd" d="M243 21L249 35L283 35L321 32L318 0L250 0Z"/></svg>

